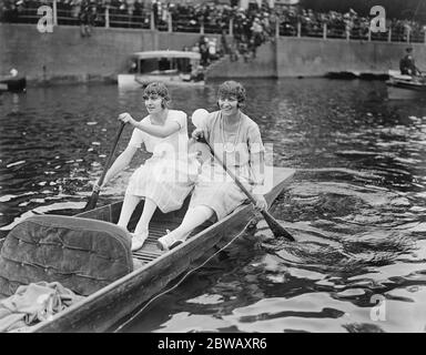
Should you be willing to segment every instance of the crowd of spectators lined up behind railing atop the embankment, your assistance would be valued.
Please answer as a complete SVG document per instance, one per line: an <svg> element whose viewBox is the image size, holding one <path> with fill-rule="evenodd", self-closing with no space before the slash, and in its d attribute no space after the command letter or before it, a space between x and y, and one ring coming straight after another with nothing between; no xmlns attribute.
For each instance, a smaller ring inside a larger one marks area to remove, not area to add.
<svg viewBox="0 0 426 355"><path fill-rule="evenodd" d="M3 0L0 17L6 22L26 22L29 14L38 19L37 9L52 0ZM155 28L161 31L204 32L223 34L221 44L233 59L255 57L256 49L281 36L367 39L371 18L348 9L346 13L336 11L315 12L300 7L275 6L268 2L248 3L246 9L239 1L230 4L205 2L186 4L164 0L57 0L59 24L80 24L82 36L90 36L93 26ZM105 17L105 9L109 17ZM31 12L32 11L32 12ZM278 23L277 23L278 21ZM424 41L425 26L409 19L387 20L393 41ZM225 34L233 34L231 43ZM373 39L387 39L385 33L373 33Z"/></svg>

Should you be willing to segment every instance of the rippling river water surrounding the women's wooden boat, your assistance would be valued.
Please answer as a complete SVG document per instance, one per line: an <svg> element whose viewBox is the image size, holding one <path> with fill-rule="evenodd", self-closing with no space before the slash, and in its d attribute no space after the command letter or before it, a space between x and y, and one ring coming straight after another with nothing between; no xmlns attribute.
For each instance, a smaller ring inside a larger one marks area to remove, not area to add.
<svg viewBox="0 0 426 355"><path fill-rule="evenodd" d="M273 143L274 164L297 170L273 206L297 242L273 242L260 222L122 332L424 332L426 102L389 101L381 81L243 83L245 112ZM214 110L217 84L171 89L173 108ZM72 214L85 204L123 111L145 114L141 90L0 97L0 237L33 211ZM98 205L121 200L145 158Z"/></svg>

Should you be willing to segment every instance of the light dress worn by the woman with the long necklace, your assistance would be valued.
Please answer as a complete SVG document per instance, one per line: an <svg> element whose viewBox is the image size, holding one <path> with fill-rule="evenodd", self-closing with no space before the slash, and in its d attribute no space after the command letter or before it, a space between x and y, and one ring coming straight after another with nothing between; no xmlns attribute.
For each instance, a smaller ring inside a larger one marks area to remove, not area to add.
<svg viewBox="0 0 426 355"><path fill-rule="evenodd" d="M252 170L252 154L264 152L265 149L257 124L244 113L241 113L240 120L237 132L234 135L226 133L225 136L221 112L210 113L204 121L207 131L205 139L217 158L225 163L248 191L253 192L254 189L263 184L263 176ZM227 148L224 143L230 141L234 145L233 152L225 151ZM222 220L244 203L246 199L247 196L212 156L201 166L190 207L206 205L215 212L217 220Z"/></svg>

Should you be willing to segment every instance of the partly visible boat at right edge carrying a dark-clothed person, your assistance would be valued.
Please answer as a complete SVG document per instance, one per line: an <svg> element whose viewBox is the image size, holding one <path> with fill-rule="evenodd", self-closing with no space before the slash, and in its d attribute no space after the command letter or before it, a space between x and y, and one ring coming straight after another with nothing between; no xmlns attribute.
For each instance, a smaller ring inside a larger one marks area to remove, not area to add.
<svg viewBox="0 0 426 355"><path fill-rule="evenodd" d="M426 80L424 77L403 75L397 70L389 70L386 81L387 97L390 100L426 99Z"/></svg>

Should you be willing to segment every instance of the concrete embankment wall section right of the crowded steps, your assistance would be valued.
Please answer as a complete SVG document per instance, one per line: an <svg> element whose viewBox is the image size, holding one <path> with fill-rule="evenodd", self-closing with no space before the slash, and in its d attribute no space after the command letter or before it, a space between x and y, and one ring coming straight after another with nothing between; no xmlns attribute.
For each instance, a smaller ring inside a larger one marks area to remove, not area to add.
<svg viewBox="0 0 426 355"><path fill-rule="evenodd" d="M225 60L209 70L209 77L323 77L329 72L355 74L387 74L389 69L399 68L407 43L322 40L315 38L280 38L263 44L255 60L245 62ZM426 45L415 48L417 67L426 70Z"/></svg>

